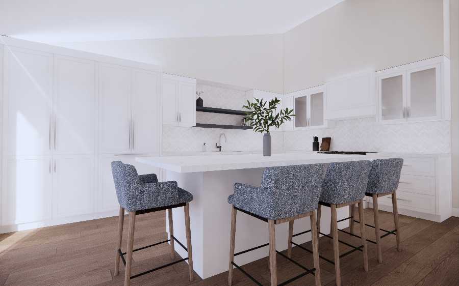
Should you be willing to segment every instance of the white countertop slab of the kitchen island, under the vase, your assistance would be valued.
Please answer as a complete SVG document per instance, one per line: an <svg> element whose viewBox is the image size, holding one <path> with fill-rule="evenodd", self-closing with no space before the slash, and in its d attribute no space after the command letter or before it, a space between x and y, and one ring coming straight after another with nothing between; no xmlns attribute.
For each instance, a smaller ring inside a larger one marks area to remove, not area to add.
<svg viewBox="0 0 459 286"><path fill-rule="evenodd" d="M194 173L205 171L264 168L272 166L288 166L299 164L331 163L343 161L373 160L381 156L378 153L368 155L341 155L304 153L278 153L264 157L262 154L225 154L225 155L193 155L193 156L158 156L137 157L141 163L153 165L177 173Z"/></svg>

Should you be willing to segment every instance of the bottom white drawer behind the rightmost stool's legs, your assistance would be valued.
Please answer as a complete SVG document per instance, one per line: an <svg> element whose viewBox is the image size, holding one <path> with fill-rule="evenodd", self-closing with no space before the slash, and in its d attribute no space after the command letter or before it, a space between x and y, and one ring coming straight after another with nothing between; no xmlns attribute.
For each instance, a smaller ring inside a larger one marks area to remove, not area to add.
<svg viewBox="0 0 459 286"><path fill-rule="evenodd" d="M378 204L392 207L392 197L380 197ZM398 209L435 214L435 196L397 191L397 206Z"/></svg>

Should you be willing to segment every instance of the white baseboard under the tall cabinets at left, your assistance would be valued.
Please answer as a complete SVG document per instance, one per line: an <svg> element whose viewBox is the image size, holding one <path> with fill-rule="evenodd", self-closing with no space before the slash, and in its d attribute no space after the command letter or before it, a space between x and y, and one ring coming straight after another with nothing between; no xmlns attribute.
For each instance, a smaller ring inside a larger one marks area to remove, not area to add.
<svg viewBox="0 0 459 286"><path fill-rule="evenodd" d="M0 234L32 230L33 228L39 228L39 227L45 227L45 226L53 226L53 225L59 225L59 224L66 224L66 223L72 223L72 222L79 222L79 221L85 221L85 220L117 216L119 214L118 212L119 211L106 211L106 212L71 216L71 217L65 217L65 218L59 218L59 219L53 219L53 220L2 225L0 226Z"/></svg>

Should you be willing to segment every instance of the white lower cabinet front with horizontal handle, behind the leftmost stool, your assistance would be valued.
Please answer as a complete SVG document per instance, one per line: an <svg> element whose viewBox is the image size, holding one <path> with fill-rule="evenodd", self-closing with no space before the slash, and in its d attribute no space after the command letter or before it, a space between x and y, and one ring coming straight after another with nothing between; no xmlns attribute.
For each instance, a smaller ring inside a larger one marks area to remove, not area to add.
<svg viewBox="0 0 459 286"><path fill-rule="evenodd" d="M99 160L99 188L97 198L97 211L118 210L119 203L116 197L115 183L113 182L112 161L121 161L125 164L134 165L139 175L156 174L160 180L160 169L150 165L139 163L135 156L110 156L102 155Z"/></svg>

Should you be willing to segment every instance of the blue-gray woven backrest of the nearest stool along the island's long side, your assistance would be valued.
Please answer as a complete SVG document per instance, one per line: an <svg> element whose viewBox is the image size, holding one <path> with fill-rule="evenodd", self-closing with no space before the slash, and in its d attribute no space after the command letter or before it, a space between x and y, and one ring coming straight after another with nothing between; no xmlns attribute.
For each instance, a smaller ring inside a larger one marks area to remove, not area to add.
<svg viewBox="0 0 459 286"><path fill-rule="evenodd" d="M300 215L317 209L323 173L323 164L267 167L260 188L276 217Z"/></svg>

